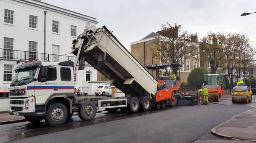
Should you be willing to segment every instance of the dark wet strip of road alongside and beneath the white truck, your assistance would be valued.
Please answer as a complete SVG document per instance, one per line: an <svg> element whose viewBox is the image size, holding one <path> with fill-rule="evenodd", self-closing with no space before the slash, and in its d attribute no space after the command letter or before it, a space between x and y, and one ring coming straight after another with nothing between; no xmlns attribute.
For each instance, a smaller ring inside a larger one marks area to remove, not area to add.
<svg viewBox="0 0 256 143"><path fill-rule="evenodd" d="M22 139L22 138L26 138L26 137L34 137L34 136L38 136L38 135L60 132L60 131L68 130L68 129L75 129L75 128L79 128L79 127L83 127L83 126L90 126L90 125L94 125L94 124L98 124L98 123L105 123L105 122L109 122L109 121L116 121L116 120L121 120L121 119L125 119L125 118L137 117L137 116L141 116L141 115L147 115L147 114L152 114L155 112L162 112L162 111L166 111L169 109L176 109L176 108L177 107L166 107L165 109L150 110L147 112L137 112L134 114L125 113L123 111L119 111L117 113L109 113L107 111L104 111L104 112L97 113L95 119L92 121L81 121L80 118L74 118L74 119L72 118L70 121L67 121L64 125L55 126L55 127L49 126L46 123L41 123L37 127L35 127L35 125L33 125L32 123L29 123L27 125L28 127L25 127L26 129L32 129L32 128L34 128L34 129L37 128L37 129L34 131L30 131L30 132L23 132L23 133L16 134L16 135L10 135L8 137L8 139L6 137L5 137L5 139L6 139L6 141L18 140L18 139ZM40 128L40 129L38 129L38 128Z"/></svg>

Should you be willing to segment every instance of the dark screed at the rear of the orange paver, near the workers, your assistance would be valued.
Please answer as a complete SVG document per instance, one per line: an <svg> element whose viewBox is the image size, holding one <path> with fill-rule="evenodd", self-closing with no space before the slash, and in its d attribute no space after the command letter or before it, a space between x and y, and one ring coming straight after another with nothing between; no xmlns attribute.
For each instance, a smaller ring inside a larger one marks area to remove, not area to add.
<svg viewBox="0 0 256 143"><path fill-rule="evenodd" d="M198 94L180 94L178 98L178 105L179 106L193 106L199 104L199 97Z"/></svg>

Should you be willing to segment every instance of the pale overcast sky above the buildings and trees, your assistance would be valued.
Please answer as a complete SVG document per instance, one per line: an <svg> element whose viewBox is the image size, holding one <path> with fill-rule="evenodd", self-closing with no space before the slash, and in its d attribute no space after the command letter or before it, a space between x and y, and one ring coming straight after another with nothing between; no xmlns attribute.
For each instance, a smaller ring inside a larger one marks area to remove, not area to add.
<svg viewBox="0 0 256 143"><path fill-rule="evenodd" d="M256 0L41 0L71 11L95 17L97 27L106 25L130 51L130 43L176 22L182 30L246 34L256 47ZM82 33L83 31L78 31ZM254 40L254 41L253 41Z"/></svg>

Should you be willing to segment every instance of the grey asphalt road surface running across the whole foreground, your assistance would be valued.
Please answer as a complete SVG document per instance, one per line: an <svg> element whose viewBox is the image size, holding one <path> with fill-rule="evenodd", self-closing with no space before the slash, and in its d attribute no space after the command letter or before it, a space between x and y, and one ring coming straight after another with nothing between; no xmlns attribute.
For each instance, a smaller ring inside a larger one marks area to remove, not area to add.
<svg viewBox="0 0 256 143"><path fill-rule="evenodd" d="M252 107L232 104L229 97L219 104L171 107L137 114L100 112L93 121L73 121L59 127L28 122L0 126L0 143L192 143L218 124Z"/></svg>

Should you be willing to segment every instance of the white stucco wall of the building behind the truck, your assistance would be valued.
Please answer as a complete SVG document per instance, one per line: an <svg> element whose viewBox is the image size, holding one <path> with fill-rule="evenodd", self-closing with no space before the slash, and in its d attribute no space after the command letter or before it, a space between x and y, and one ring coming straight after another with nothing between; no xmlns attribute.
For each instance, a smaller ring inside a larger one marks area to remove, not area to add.
<svg viewBox="0 0 256 143"><path fill-rule="evenodd" d="M4 22L5 9L14 11L14 23L7 24ZM68 11L63 8L58 8L46 3L41 3L33 0L1 0L0 1L0 67L4 64L12 65L14 70L17 65L15 61L3 59L3 37L14 39L13 50L29 51L29 41L37 42L37 59L44 60L44 11L46 14L46 53L52 54L52 45L59 45L59 55L65 55L72 47L72 40L76 37L71 36L70 26L76 26L76 36L84 30L86 22L91 25L96 25L96 18ZM37 17L37 28L29 28L29 15ZM59 22L59 33L52 32L52 20ZM2 49L1 49L2 48ZM28 52L27 52L28 53ZM25 52L13 52L15 59L25 57ZM66 55L67 56L67 55ZM71 56L71 55L68 55ZM28 58L28 55L27 55ZM51 59L51 58L49 58ZM59 57L59 60L67 60ZM75 87L88 87L88 82L85 81L85 72L91 73L90 81L97 80L97 71L93 67L87 65L85 70L78 71ZM12 78L15 73L12 74ZM11 82L3 81L3 68L0 68L0 85L9 86Z"/></svg>

